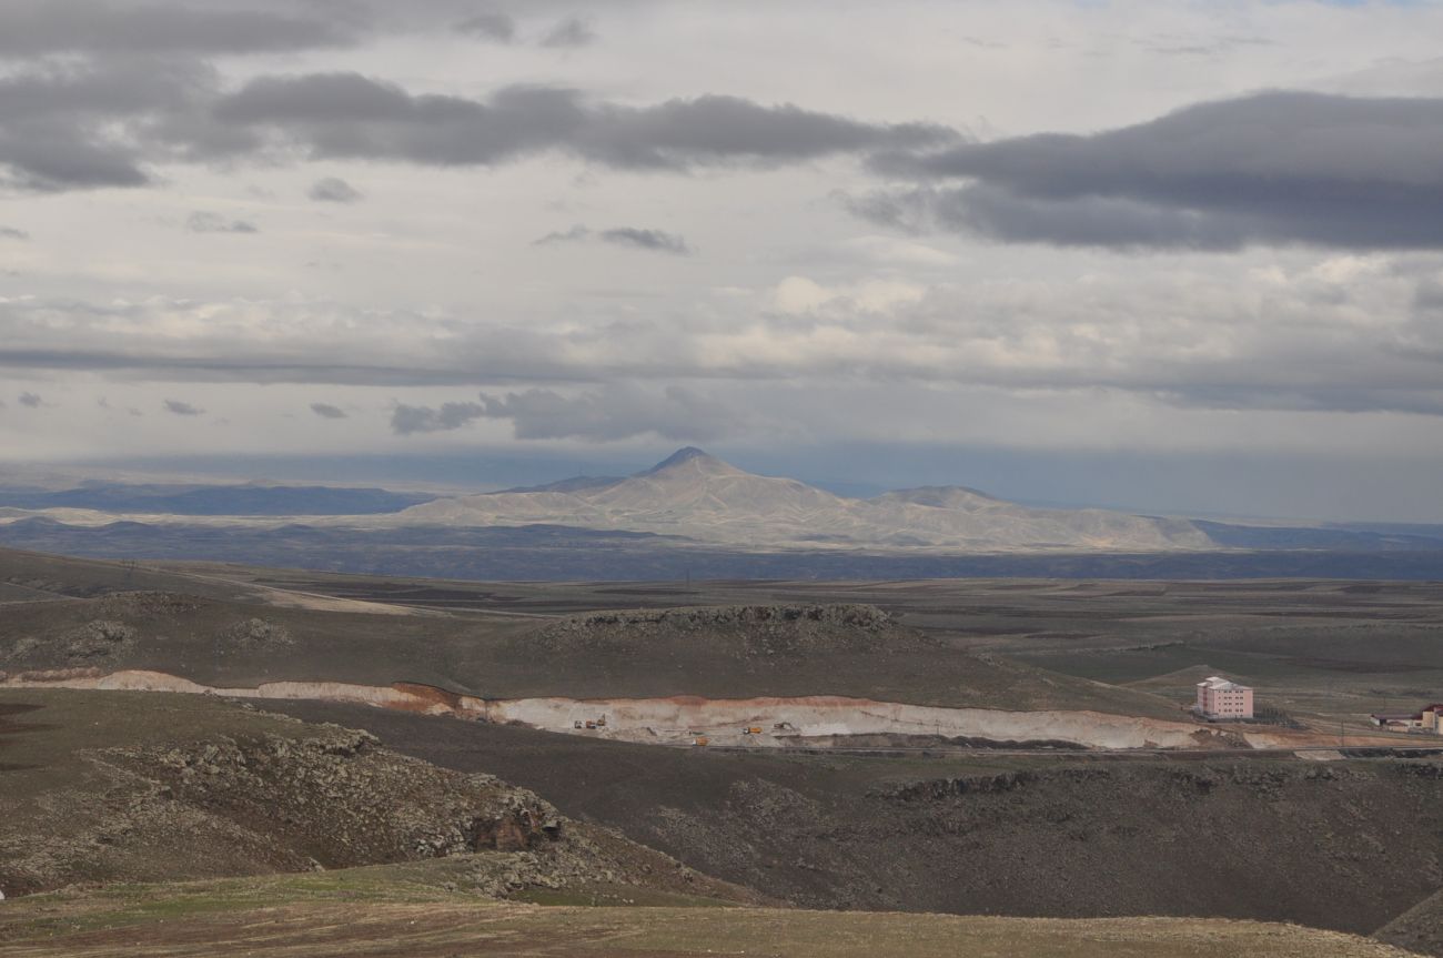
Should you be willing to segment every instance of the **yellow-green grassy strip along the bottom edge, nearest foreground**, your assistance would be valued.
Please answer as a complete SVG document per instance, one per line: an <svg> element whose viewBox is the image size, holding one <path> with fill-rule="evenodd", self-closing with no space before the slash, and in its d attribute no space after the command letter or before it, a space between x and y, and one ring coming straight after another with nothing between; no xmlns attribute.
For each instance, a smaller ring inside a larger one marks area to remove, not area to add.
<svg viewBox="0 0 1443 958"><path fill-rule="evenodd" d="M704 902L697 902L704 903ZM433 876L364 869L33 896L0 906L7 958L701 954L802 958L1403 958L1313 929L1208 919L1001 919L478 900Z"/></svg>

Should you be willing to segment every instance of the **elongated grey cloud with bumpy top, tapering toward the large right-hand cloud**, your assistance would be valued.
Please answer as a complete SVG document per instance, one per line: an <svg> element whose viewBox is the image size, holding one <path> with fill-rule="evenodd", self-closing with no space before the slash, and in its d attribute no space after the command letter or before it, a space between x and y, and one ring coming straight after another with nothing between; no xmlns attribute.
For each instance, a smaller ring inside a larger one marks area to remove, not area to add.
<svg viewBox="0 0 1443 958"><path fill-rule="evenodd" d="M622 169L782 163L951 139L926 124L866 124L736 97L655 107L589 102L574 89L509 87L488 101L411 95L359 74L266 76L222 97L222 121L312 157L494 164L545 150Z"/></svg>

